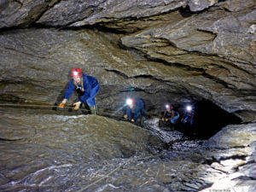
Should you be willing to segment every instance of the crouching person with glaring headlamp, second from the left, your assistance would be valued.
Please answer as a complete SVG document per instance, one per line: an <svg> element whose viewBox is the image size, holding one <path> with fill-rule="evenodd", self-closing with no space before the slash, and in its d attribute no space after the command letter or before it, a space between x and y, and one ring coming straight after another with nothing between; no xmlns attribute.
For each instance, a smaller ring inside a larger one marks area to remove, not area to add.
<svg viewBox="0 0 256 192"><path fill-rule="evenodd" d="M127 99L124 118L135 122L137 119L143 120L145 115L145 102L141 98Z"/></svg>

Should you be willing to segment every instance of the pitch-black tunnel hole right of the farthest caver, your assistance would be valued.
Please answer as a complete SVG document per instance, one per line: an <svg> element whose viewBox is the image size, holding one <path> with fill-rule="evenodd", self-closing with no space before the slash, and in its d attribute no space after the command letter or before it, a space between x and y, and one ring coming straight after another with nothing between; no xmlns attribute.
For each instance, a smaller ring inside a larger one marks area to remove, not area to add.
<svg viewBox="0 0 256 192"><path fill-rule="evenodd" d="M186 125L184 128L185 134L190 137L208 139L226 125L241 123L241 119L234 113L228 113L207 100L183 104L183 106L178 108L181 116L183 116L184 108L188 105L191 105L195 112L193 125ZM180 124L182 123L180 122Z"/></svg>

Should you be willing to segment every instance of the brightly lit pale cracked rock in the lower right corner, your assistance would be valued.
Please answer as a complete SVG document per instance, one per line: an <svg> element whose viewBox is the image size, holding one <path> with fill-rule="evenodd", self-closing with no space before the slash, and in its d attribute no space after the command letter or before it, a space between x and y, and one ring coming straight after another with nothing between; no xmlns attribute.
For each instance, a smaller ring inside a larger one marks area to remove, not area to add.
<svg viewBox="0 0 256 192"><path fill-rule="evenodd" d="M255 188L255 141L256 125L229 125L210 138L207 146L208 160L214 157L213 169L228 173L218 177L214 184L202 191L230 189L231 191L254 191ZM239 139L237 139L239 138Z"/></svg>

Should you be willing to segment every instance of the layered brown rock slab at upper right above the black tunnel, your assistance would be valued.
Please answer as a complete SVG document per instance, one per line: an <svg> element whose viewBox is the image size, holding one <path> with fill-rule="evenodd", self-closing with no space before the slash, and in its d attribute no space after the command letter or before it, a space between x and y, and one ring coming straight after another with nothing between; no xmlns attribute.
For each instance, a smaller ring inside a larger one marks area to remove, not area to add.
<svg viewBox="0 0 256 192"><path fill-rule="evenodd" d="M250 32L255 15L253 12L253 9L236 13L212 9L201 15L177 20L170 25L155 25L125 36L122 38L122 44L142 51L151 59L166 61L177 67L182 65L192 70L200 70L203 75L226 88L215 90L212 87L210 91L224 91L222 96L229 95L227 91L230 90L236 92L236 96L238 93L241 93L242 97L247 95L246 100L251 101L247 107L255 111L253 95L256 85L256 55L252 50L256 47L255 34ZM211 95L214 97L215 94ZM244 99L245 97L241 100ZM211 100L215 103L225 103L219 98ZM225 110L239 111L245 107L238 107L235 103L231 104L234 108Z"/></svg>

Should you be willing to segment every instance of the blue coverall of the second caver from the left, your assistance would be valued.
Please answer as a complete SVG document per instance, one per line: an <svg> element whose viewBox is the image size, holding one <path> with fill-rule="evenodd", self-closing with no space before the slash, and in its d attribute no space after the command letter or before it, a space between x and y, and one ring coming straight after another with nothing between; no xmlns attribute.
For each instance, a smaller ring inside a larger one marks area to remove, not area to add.
<svg viewBox="0 0 256 192"><path fill-rule="evenodd" d="M141 115L141 118L145 114L145 102L141 98L135 98L135 106L134 108L126 107L125 114L127 114L128 118L134 119L136 121L138 117Z"/></svg>

